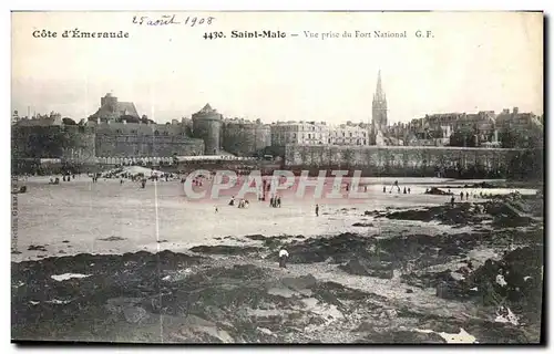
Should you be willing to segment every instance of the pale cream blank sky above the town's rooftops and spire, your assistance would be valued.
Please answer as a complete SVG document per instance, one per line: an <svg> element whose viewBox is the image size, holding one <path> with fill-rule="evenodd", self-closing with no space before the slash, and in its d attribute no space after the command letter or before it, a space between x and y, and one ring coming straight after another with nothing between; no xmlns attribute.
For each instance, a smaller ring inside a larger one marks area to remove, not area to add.
<svg viewBox="0 0 554 354"><path fill-rule="evenodd" d="M133 15L162 14L181 23L132 23ZM214 20L191 27L187 17ZM129 38L61 38L74 29L121 30ZM37 30L58 38L33 38ZM233 39L234 30L287 38ZM418 30L432 38L417 38ZM356 38L356 31L406 31L407 38ZM206 32L226 38L206 40ZM329 32L339 38L321 39ZM20 115L30 107L31 114L54 111L79 122L111 92L158 123L189 117L206 103L226 117L266 123L369 122L379 70L389 123L515 106L542 114L542 13L12 13L11 103Z"/></svg>

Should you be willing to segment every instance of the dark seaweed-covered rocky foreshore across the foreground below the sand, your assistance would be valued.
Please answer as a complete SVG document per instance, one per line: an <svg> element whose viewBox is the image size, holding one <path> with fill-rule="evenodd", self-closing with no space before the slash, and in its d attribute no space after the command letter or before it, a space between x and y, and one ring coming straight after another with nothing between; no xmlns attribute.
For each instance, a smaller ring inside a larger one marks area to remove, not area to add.
<svg viewBox="0 0 554 354"><path fill-rule="evenodd" d="M373 223L437 221L471 232L382 236L360 223L359 232L317 239L248 235L239 246L224 238L184 253L12 262L12 339L538 343L538 206L514 197L360 212ZM517 222L506 222L514 212ZM281 248L290 254L286 269L277 262Z"/></svg>

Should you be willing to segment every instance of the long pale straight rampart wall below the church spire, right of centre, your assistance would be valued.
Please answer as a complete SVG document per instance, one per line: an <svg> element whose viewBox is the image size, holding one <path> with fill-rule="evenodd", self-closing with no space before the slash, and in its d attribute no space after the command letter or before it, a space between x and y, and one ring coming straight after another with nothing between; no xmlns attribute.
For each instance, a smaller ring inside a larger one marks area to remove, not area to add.
<svg viewBox="0 0 554 354"><path fill-rule="evenodd" d="M365 176L506 177L521 149L433 146L285 146L289 169L349 169Z"/></svg>

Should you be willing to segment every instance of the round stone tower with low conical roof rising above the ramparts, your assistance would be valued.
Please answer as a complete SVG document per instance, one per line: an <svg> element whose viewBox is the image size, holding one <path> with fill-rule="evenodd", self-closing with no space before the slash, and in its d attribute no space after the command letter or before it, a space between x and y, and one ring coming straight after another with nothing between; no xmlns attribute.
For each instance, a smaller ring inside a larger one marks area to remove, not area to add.
<svg viewBox="0 0 554 354"><path fill-rule="evenodd" d="M219 155L219 133L222 115L209 106L193 114L193 135L204 140L205 155Z"/></svg>

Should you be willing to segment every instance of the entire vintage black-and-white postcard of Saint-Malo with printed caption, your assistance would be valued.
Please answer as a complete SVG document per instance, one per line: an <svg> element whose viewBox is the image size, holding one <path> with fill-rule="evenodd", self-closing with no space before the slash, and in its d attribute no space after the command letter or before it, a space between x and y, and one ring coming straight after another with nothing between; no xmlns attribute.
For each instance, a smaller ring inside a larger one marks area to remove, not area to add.
<svg viewBox="0 0 554 354"><path fill-rule="evenodd" d="M13 342L545 340L542 12L11 21Z"/></svg>

